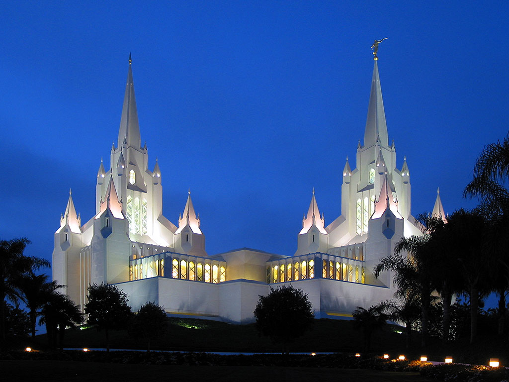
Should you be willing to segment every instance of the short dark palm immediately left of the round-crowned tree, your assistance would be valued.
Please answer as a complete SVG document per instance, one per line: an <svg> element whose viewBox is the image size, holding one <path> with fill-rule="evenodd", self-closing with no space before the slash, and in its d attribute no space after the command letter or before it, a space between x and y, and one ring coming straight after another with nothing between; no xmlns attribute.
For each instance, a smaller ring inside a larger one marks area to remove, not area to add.
<svg viewBox="0 0 509 382"><path fill-rule="evenodd" d="M52 291L47 302L42 306L39 324L46 325L46 333L50 346L56 346L57 337L60 348L63 347L65 330L83 323L83 314L79 306L65 294Z"/></svg>

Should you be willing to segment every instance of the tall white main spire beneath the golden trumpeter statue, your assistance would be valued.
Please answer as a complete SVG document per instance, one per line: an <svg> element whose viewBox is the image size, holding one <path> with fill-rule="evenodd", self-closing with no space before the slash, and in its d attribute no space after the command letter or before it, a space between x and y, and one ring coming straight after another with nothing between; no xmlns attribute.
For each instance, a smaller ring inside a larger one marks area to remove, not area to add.
<svg viewBox="0 0 509 382"><path fill-rule="evenodd" d="M364 130L364 147L373 146L378 140L380 140L380 144L383 147L389 145L378 64L375 61L373 78L371 80L370 103L367 108L366 128Z"/></svg>

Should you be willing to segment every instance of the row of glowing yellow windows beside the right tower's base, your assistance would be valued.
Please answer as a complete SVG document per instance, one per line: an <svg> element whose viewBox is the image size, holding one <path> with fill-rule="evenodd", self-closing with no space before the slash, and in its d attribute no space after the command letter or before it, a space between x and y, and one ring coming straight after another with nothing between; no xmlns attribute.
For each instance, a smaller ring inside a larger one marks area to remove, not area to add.
<svg viewBox="0 0 509 382"><path fill-rule="evenodd" d="M315 260L282 263L267 267L267 283L284 283L315 278ZM363 266L339 261L323 260L322 278L365 284L366 271Z"/></svg>

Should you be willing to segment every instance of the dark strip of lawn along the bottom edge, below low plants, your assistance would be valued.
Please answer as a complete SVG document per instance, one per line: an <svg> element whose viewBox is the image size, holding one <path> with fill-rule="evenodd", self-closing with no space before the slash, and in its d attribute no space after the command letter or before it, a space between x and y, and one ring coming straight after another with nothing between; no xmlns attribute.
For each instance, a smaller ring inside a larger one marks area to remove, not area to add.
<svg viewBox="0 0 509 382"><path fill-rule="evenodd" d="M260 367L260 366L181 366L122 365L73 361L0 361L3 380L70 382L161 380L263 381L292 382L432 382L419 373L359 369Z"/></svg>

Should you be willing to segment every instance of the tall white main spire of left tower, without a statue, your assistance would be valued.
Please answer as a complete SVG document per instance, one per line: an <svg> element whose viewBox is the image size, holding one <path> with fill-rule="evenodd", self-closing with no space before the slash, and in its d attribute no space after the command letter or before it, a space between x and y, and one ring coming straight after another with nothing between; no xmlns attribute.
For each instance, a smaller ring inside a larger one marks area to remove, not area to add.
<svg viewBox="0 0 509 382"><path fill-rule="evenodd" d="M122 106L122 117L119 129L119 147L122 146L124 137L127 146L140 148L142 140L139 136L138 112L136 110L136 98L134 97L134 83L131 69L131 53L129 53L129 71L127 72L127 84Z"/></svg>

